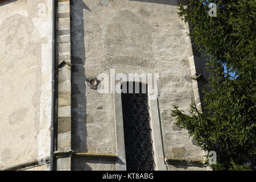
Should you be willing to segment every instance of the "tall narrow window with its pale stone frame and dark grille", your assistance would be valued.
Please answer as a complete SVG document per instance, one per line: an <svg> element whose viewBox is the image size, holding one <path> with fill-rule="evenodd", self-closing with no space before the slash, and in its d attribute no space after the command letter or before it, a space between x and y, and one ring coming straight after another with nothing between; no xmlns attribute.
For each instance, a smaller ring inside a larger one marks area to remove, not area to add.
<svg viewBox="0 0 256 182"><path fill-rule="evenodd" d="M158 76L111 74L110 84L114 97L116 169L166 171L158 109Z"/></svg>

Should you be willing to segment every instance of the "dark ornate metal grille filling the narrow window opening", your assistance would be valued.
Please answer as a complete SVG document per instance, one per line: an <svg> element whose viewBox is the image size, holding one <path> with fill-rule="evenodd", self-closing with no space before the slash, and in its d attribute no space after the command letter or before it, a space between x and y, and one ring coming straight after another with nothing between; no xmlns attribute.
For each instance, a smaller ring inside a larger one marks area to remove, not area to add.
<svg viewBox="0 0 256 182"><path fill-rule="evenodd" d="M128 171L154 171L155 169L148 109L147 93L122 93Z"/></svg>

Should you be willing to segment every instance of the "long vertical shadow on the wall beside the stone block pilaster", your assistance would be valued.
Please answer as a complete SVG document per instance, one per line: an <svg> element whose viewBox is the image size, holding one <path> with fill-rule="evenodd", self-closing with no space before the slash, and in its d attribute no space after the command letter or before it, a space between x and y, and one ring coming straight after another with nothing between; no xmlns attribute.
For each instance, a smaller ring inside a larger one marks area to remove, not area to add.
<svg viewBox="0 0 256 182"><path fill-rule="evenodd" d="M71 1L71 115L72 150L75 152L87 152L84 10L91 11L82 0Z"/></svg>

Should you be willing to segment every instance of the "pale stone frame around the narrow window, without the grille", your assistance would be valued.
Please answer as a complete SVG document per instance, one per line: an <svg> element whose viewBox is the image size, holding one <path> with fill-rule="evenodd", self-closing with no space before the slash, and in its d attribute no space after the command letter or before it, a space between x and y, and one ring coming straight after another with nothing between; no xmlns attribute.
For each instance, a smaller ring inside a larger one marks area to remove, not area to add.
<svg viewBox="0 0 256 182"><path fill-rule="evenodd" d="M151 76L139 76L139 75L124 75L124 79L115 80L115 76L119 74L110 75L110 86L113 90L117 84L121 84L123 82L141 82L142 84L146 84L148 89L152 88L152 81L147 82L148 78L150 80L154 79L156 81L155 86L156 90L159 90L159 80L158 78ZM127 78L128 77L128 78ZM118 161L116 163L117 171L126 171L126 158L125 158L125 137L123 131L123 114L122 114L122 97L121 93L113 93L114 99L114 119L115 119L115 140L116 140L116 150ZM158 93L157 94L148 94L148 106L149 106L149 114L150 114L150 125L151 125L151 135L153 141L153 150L154 150L154 160L155 160L155 170L156 171L166 171L167 166L164 160L164 151L163 151L163 142L162 142L162 134L160 128L160 119L159 119L159 109L158 109Z"/></svg>

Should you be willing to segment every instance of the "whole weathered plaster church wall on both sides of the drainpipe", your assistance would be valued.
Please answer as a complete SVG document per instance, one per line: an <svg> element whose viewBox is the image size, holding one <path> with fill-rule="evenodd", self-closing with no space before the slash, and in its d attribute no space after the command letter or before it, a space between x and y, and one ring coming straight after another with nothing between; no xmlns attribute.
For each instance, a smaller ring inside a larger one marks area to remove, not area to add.
<svg viewBox="0 0 256 182"><path fill-rule="evenodd" d="M52 1L0 2L0 170L16 165L15 169L49 170ZM166 169L207 169L201 164L204 152L170 115L173 105L186 113L192 102L200 106L199 84L191 76L204 73L188 39L188 26L177 15L179 2L71 0L69 19L69 1L59 0L58 58L59 62L71 59L72 65L71 108L68 102L67 110L60 109L60 101L70 100L70 92L67 98L60 96L60 80L69 78L70 71L66 75L60 71L57 114L69 114L71 109L72 140L58 134L57 142L71 144L73 151L68 160L57 159L57 169L117 169L114 96L86 85L89 77L101 73L110 77L110 69L115 74L159 74L156 110L163 143L158 144L163 144ZM69 34L69 27L71 36L60 35ZM69 47L63 46L67 42ZM61 51L71 52L71 57ZM28 163L33 165L26 168Z"/></svg>

